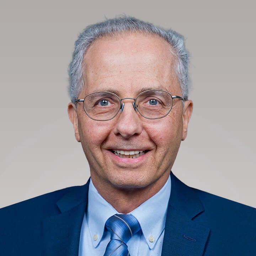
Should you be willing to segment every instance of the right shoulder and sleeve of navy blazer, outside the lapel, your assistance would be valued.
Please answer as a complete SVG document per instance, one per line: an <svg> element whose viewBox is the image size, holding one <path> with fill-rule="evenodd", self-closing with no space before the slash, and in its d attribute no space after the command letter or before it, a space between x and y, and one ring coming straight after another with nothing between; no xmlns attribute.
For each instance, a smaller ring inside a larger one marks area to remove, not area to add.
<svg viewBox="0 0 256 256"><path fill-rule="evenodd" d="M225 251L225 255L256 255L256 209L201 190L193 190L204 207L201 220L206 221L210 227L205 255L220 255L212 254L213 251Z"/></svg>

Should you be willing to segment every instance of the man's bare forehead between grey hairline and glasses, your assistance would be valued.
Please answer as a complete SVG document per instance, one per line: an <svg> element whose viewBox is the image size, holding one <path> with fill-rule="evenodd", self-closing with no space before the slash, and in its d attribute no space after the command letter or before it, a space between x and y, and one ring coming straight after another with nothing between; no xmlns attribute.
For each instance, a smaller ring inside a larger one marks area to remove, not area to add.
<svg viewBox="0 0 256 256"><path fill-rule="evenodd" d="M174 93L179 89L175 63L171 46L159 36L130 33L100 38L84 56L84 92L137 93L145 87Z"/></svg>

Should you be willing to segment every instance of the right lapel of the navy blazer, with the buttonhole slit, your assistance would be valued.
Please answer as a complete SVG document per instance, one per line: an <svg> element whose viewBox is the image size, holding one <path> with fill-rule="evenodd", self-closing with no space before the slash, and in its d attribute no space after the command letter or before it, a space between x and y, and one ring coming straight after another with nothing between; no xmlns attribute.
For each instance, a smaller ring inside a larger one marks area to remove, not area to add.
<svg viewBox="0 0 256 256"><path fill-rule="evenodd" d="M162 256L202 256L209 228L200 219L204 208L192 188L171 173Z"/></svg>

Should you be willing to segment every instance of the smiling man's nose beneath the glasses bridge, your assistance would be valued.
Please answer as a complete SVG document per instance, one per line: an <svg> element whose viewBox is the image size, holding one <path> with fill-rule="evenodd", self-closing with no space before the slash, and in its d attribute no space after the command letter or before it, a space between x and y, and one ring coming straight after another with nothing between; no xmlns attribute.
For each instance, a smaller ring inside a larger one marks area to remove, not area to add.
<svg viewBox="0 0 256 256"><path fill-rule="evenodd" d="M142 133L141 119L133 103L126 99L125 104L124 102L122 104L120 113L116 116L117 123L114 128L114 134L120 134L126 139Z"/></svg>

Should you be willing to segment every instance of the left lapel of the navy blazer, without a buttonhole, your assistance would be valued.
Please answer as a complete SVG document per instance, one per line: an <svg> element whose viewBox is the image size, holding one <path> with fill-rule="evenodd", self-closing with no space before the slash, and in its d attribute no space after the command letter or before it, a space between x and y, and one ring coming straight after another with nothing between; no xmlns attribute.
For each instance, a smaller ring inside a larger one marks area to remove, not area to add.
<svg viewBox="0 0 256 256"><path fill-rule="evenodd" d="M66 194L56 203L60 214L44 220L44 256L78 256L89 181L84 186L77 187Z"/></svg>

